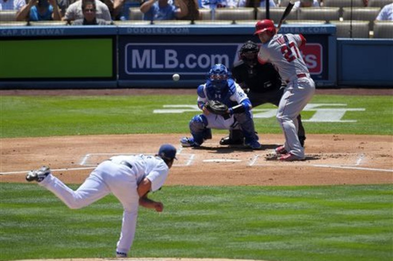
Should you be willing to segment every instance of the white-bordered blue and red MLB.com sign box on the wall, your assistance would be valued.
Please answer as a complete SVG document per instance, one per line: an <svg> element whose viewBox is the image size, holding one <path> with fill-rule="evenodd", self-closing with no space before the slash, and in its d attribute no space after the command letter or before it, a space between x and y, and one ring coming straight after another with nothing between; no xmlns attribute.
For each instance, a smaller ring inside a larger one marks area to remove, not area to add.
<svg viewBox="0 0 393 261"><path fill-rule="evenodd" d="M215 64L231 68L243 43L128 43L124 51L126 74L204 75ZM322 46L307 44L303 58L311 74L322 72Z"/></svg>

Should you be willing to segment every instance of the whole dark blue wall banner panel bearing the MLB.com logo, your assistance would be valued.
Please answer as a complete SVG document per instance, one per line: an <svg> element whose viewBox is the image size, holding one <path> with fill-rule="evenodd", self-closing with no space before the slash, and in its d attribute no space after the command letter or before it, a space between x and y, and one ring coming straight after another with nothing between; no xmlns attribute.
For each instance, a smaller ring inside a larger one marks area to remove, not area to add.
<svg viewBox="0 0 393 261"><path fill-rule="evenodd" d="M328 80L327 35L309 35L301 49L302 56L315 80ZM119 80L170 80L178 73L182 80L203 81L217 63L231 69L238 61L242 44L257 38L250 35L217 36L119 36ZM151 40L154 39L152 42ZM223 41L225 40L225 41Z"/></svg>

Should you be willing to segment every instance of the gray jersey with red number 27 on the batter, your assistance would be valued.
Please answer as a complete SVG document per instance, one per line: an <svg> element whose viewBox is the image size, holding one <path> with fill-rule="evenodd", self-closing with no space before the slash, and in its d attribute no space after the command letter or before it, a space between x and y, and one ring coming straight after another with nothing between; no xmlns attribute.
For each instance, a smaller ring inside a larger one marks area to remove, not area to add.
<svg viewBox="0 0 393 261"><path fill-rule="evenodd" d="M297 74L309 73L299 47L306 44L301 34L276 34L269 42L262 44L258 61L272 63L280 73L281 79L289 81Z"/></svg>

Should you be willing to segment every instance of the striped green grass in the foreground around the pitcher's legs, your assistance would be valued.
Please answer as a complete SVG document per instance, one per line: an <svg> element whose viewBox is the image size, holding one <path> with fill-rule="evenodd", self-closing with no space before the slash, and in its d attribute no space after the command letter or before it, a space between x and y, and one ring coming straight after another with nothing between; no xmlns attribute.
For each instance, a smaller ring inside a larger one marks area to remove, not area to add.
<svg viewBox="0 0 393 261"><path fill-rule="evenodd" d="M72 188L76 188L73 186ZM393 185L165 187L140 209L132 257L391 261ZM0 259L110 258L122 208L70 210L33 184L0 184Z"/></svg>

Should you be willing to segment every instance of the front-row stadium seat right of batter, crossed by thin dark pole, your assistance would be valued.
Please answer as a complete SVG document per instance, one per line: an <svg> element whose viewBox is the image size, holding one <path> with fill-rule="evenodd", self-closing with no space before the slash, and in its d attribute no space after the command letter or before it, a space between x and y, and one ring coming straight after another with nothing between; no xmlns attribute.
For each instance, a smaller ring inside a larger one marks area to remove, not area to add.
<svg viewBox="0 0 393 261"><path fill-rule="evenodd" d="M368 21L330 21L330 24L336 25L338 38L369 38Z"/></svg>

